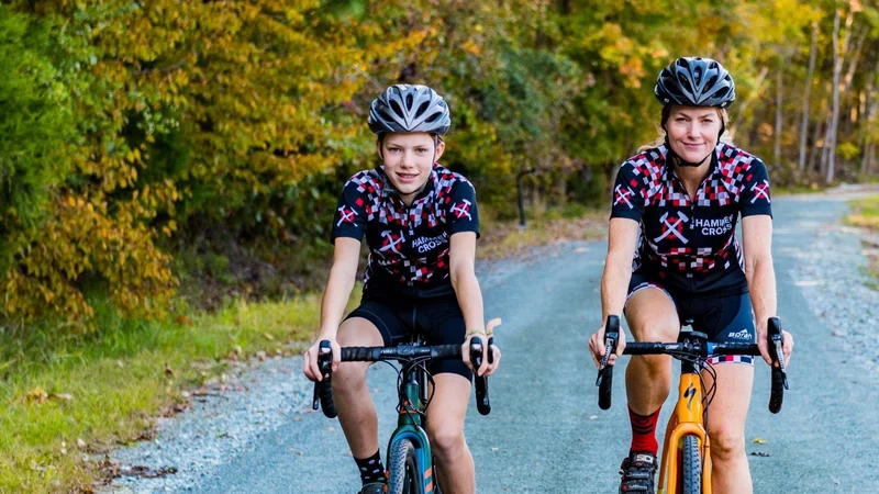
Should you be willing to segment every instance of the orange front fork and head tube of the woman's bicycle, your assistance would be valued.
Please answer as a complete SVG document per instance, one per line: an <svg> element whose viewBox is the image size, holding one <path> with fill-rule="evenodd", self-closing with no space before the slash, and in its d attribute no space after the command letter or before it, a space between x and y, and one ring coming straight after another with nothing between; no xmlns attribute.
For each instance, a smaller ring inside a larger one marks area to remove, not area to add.
<svg viewBox="0 0 879 494"><path fill-rule="evenodd" d="M699 438L699 449L702 458L702 492L711 493L711 458L710 442L703 422L704 406L702 398L704 390L699 375L699 369L692 362L681 361L680 383L678 384L678 402L668 419L665 440L663 441L663 456L659 463L659 485L657 494L672 494L678 492L678 445L685 435L691 434ZM668 482L668 485L666 485Z"/></svg>

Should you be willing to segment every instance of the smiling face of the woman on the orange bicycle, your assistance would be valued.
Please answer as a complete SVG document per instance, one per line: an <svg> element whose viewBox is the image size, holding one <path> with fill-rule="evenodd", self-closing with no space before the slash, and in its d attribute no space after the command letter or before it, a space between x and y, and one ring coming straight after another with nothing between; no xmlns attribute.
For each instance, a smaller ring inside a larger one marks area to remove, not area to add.
<svg viewBox="0 0 879 494"><path fill-rule="evenodd" d="M665 122L671 149L687 161L702 161L717 144L721 119L715 108L672 106Z"/></svg>

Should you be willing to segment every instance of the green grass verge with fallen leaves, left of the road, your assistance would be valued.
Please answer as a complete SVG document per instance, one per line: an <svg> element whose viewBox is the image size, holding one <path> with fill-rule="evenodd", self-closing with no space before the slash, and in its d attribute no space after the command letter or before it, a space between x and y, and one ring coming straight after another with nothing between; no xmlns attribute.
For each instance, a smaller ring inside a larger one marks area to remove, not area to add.
<svg viewBox="0 0 879 494"><path fill-rule="evenodd" d="M148 435L152 417L186 403L182 392L222 373L230 356L301 351L319 306L308 295L191 323L108 317L86 336L0 332L0 493L88 491L99 472L87 454Z"/></svg>

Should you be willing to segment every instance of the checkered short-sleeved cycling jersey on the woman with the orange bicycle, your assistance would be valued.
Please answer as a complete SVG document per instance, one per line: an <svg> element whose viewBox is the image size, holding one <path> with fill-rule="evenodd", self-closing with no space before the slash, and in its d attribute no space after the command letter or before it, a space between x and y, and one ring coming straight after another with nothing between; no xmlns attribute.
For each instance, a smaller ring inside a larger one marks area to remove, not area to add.
<svg viewBox="0 0 879 494"><path fill-rule="evenodd" d="M633 270L667 289L744 293L747 282L735 237L738 215L771 216L769 179L759 158L720 143L711 171L691 200L666 166L665 145L623 162L611 217L641 223Z"/></svg>

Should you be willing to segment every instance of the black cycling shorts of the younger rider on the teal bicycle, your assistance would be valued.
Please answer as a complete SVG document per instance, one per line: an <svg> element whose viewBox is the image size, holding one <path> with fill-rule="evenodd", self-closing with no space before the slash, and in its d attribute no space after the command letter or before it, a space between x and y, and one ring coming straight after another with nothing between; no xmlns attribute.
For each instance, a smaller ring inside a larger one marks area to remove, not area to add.
<svg viewBox="0 0 879 494"><path fill-rule="evenodd" d="M426 345L464 344L465 324L457 299L377 299L364 297L360 305L345 317L363 317L375 324L386 347L409 341L421 335ZM427 364L432 374L450 372L472 379L472 372L461 359L436 359Z"/></svg>

